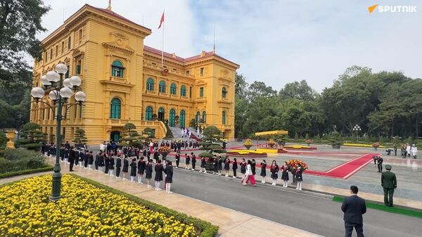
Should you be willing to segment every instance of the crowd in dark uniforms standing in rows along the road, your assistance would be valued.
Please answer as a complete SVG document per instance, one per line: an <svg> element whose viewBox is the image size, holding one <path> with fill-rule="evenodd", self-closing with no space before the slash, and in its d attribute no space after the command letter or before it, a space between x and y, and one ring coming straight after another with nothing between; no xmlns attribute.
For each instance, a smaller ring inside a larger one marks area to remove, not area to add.
<svg viewBox="0 0 422 237"><path fill-rule="evenodd" d="M146 142L143 146L124 146L118 147L117 143L113 141L104 141L100 144L99 152L94 156L92 150L88 150L86 144L79 146L71 146L66 141L60 146L60 159L69 165L70 172L74 171L75 166L83 167L85 169L95 169L98 172L103 172L116 179L122 178L131 182L136 181L138 184L143 184L146 181L147 187L151 188L151 179L153 178L153 171L155 171L154 181L155 190L160 190L161 182L165 181L165 189L167 193L170 192L170 187L173 178L173 163L167 160L167 156L160 153L160 148L167 146L174 150L174 159L176 168L179 168L181 151L194 149L198 147L197 141L161 141ZM41 148L41 153L49 157L56 155L56 146L54 143L45 144ZM241 173L241 183L243 185L252 184L255 186L255 175L257 175L257 163L255 159L245 160L242 158L240 162L236 158L231 160L228 156L222 158L214 155L212 158L199 157L191 152L184 154L185 169L197 170L196 162L200 162L199 172L207 172L207 169L212 170L212 174L229 177L230 170L234 179L238 176L238 169ZM130 168L130 170L129 170ZM288 186L289 172L292 174L293 180L297 181L296 189L302 190L302 172L303 168L290 167L287 162L284 165L277 165L276 160L267 165L265 160L260 162L260 177L262 184L266 182L267 168L269 168L269 177L271 177L271 185L276 185L279 179L279 172L281 172L281 180L283 180L283 187ZM164 176L163 176L164 173ZM168 184L168 185L167 185Z"/></svg>

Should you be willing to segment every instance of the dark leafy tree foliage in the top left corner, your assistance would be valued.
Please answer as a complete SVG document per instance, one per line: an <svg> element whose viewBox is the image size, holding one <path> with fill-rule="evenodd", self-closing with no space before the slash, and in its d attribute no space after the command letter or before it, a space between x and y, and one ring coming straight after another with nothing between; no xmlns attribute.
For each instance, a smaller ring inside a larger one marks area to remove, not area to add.
<svg viewBox="0 0 422 237"><path fill-rule="evenodd" d="M0 1L0 84L6 88L27 83L20 80L27 77L17 77L30 68L26 54L36 60L41 58L41 44L36 35L46 30L41 26L41 17L49 10L41 0Z"/></svg>

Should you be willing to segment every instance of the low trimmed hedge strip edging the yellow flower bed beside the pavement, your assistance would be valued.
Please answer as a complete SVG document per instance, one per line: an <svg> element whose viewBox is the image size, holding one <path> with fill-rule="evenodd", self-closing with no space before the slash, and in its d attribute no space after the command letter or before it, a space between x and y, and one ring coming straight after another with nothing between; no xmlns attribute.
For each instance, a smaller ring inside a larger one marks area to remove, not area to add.
<svg viewBox="0 0 422 237"><path fill-rule="evenodd" d="M84 181L87 181L89 184L92 184L94 186L97 186L98 188L104 188L107 191L110 191L112 193L116 193L118 195L124 196L129 200L132 200L135 203L138 203L139 205L143 205L151 210L155 210L156 212L160 212L162 214L165 214L167 216L173 216L175 219L178 219L181 222L184 222L185 224L193 224L193 226L196 227L200 231L200 237L213 237L217 235L219 226L212 225L210 222L205 222L201 219L198 219L196 217L190 217L187 214L177 212L175 210L172 210L170 208L164 207L162 205L158 205L156 203L151 203L148 200L143 200L141 198L138 198L136 196L133 196L129 193L124 193L122 191L119 191L115 188L111 188L109 186L106 186L104 184L98 183L97 181L93 181L91 179L87 179L85 177L80 177L77 174L70 174L73 175L79 179L82 179Z"/></svg>

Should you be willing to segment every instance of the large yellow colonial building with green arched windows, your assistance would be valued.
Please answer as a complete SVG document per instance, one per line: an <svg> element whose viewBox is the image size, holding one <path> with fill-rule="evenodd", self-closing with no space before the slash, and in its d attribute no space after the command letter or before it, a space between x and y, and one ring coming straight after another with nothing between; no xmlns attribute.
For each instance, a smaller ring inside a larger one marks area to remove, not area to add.
<svg viewBox="0 0 422 237"><path fill-rule="evenodd" d="M131 122L141 132L150 127L155 137L171 127L188 127L191 120L215 125L226 139L234 138L234 75L239 65L215 52L181 58L143 45L151 30L108 8L88 4L41 41L42 60L34 63L34 87L58 63L68 65L65 77L82 78L86 103L72 106L63 120L65 140L75 129L86 131L89 143L120 136ZM72 102L72 101L71 101ZM56 134L53 111L32 104L31 122L46 134Z"/></svg>

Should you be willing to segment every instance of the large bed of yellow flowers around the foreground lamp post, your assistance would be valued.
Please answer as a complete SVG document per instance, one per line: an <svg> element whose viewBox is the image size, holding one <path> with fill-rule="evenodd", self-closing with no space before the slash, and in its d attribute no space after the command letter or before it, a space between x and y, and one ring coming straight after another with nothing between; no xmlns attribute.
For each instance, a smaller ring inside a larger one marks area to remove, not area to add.
<svg viewBox="0 0 422 237"><path fill-rule="evenodd" d="M196 236L192 224L63 175L63 198L49 202L51 175L0 188L0 236Z"/></svg>

